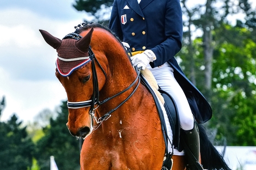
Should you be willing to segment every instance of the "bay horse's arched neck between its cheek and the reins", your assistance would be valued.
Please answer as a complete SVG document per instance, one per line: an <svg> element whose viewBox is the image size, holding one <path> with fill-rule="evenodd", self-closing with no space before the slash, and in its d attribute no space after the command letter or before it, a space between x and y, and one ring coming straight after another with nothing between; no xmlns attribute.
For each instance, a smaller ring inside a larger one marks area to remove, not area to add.
<svg viewBox="0 0 256 170"><path fill-rule="evenodd" d="M137 75L120 42L108 35L100 42L92 40L91 46L96 55L106 56L100 59L107 73L107 80L101 90L102 99L112 97L133 83Z"/></svg>

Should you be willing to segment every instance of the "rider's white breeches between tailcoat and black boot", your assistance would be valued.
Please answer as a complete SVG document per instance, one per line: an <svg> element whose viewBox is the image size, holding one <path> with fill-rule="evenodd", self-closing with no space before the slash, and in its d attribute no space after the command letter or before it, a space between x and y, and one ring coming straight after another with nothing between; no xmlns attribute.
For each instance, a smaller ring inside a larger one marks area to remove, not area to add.
<svg viewBox="0 0 256 170"><path fill-rule="evenodd" d="M153 73L160 88L173 97L177 105L181 129L193 129L194 117L183 90L174 78L173 68L167 62L161 67L151 68L150 65L147 67Z"/></svg>

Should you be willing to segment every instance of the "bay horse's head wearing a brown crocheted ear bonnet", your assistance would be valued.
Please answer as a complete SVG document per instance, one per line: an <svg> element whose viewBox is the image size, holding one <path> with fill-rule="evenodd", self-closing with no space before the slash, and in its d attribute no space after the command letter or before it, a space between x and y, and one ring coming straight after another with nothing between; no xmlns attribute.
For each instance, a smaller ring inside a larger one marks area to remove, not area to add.
<svg viewBox="0 0 256 170"><path fill-rule="evenodd" d="M47 31L39 31L44 40L58 52L55 74L68 97L67 127L72 135L86 137L93 129L93 120L89 113L98 100L96 90L99 92L106 81L105 71L99 63L94 63L94 54L88 52L93 28L84 37L71 33L63 40ZM95 80L95 75L101 79L99 83Z"/></svg>

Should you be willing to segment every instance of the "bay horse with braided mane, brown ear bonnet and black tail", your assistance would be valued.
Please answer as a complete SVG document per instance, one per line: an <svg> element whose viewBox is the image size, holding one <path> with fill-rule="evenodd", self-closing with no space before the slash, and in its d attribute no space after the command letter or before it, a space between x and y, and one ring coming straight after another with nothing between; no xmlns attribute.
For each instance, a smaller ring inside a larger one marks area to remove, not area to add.
<svg viewBox="0 0 256 170"><path fill-rule="evenodd" d="M67 93L67 127L84 139L81 170L160 170L165 157L160 116L117 36L96 23L63 40L39 31L58 52L55 74ZM204 168L230 170L198 128ZM172 159L172 170L185 169L183 155Z"/></svg>

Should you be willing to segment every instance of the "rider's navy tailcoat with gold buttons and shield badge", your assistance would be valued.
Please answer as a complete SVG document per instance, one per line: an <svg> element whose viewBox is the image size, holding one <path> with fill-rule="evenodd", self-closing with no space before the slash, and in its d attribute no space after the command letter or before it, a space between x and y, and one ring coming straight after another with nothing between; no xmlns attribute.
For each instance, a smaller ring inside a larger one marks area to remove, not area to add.
<svg viewBox="0 0 256 170"><path fill-rule="evenodd" d="M202 93L189 81L178 65L175 55L181 50L183 34L179 0L114 0L109 28L132 52L152 50L157 59L152 68L168 62L174 76L187 96L198 123L212 117L212 109Z"/></svg>

